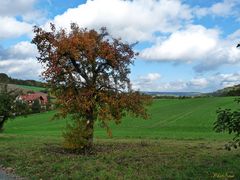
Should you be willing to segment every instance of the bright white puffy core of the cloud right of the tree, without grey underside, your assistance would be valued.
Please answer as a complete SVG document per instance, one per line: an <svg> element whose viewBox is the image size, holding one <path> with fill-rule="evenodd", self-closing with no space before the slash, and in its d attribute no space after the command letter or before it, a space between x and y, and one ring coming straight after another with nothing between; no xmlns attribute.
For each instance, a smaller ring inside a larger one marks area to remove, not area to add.
<svg viewBox="0 0 240 180"><path fill-rule="evenodd" d="M217 46L219 32L200 25L190 25L164 41L146 48L141 57L157 61L187 61L202 59Z"/></svg>

